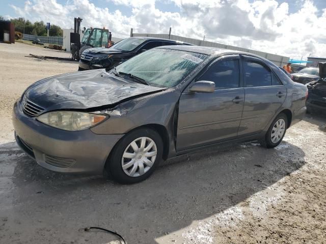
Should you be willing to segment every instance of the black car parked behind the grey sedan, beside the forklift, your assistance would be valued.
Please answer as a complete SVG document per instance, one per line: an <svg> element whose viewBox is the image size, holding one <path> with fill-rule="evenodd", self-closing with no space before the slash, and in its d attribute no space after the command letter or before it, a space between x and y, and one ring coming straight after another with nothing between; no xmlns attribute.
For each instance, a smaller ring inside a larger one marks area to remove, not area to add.
<svg viewBox="0 0 326 244"><path fill-rule="evenodd" d="M110 48L86 49L79 59L78 70L113 68L121 62L154 47L169 45L192 45L179 41L151 37L126 38Z"/></svg>

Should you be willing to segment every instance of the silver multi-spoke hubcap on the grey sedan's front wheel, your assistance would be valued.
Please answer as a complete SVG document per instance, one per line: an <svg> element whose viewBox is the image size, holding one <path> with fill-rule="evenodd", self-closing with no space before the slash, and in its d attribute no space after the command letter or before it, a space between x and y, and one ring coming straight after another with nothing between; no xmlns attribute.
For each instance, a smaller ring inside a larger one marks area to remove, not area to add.
<svg viewBox="0 0 326 244"><path fill-rule="evenodd" d="M149 137L139 137L124 150L121 159L122 169L128 176L141 176L153 166L156 155L155 142Z"/></svg>

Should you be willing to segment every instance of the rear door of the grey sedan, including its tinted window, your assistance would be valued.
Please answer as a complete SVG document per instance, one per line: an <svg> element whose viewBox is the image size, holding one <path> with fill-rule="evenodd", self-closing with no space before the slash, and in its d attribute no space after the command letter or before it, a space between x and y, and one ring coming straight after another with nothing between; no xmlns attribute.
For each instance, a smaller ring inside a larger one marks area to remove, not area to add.
<svg viewBox="0 0 326 244"><path fill-rule="evenodd" d="M241 55L244 106L238 136L261 132L285 101L287 90L263 60Z"/></svg>

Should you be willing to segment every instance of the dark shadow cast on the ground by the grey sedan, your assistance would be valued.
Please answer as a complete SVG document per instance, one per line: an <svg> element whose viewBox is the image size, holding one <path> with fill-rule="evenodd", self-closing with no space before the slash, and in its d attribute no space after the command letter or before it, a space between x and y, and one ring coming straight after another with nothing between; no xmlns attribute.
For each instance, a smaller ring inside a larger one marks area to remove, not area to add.
<svg viewBox="0 0 326 244"><path fill-rule="evenodd" d="M0 149L0 197L8 199L0 204L0 218L6 218L2 227L0 222L0 239L6 243L115 239L80 230L86 226L117 231L128 243L156 243L156 238L218 214L305 164L304 152L290 143L275 149L244 143L169 160L149 179L125 186L101 176L48 171L15 143Z"/></svg>

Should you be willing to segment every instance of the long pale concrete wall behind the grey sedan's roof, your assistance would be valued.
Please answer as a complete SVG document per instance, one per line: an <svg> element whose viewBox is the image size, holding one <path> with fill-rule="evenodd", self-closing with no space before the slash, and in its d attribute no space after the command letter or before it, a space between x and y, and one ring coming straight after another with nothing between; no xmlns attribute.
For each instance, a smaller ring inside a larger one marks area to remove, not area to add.
<svg viewBox="0 0 326 244"><path fill-rule="evenodd" d="M257 50L251 50L251 49L242 48L242 47L230 46L230 45L216 43L216 42L202 41L202 40L198 40L198 39L180 37L180 36L175 36L175 35L170 35L170 38L169 38L169 34L133 33L132 36L133 37L166 38L166 39L171 39L171 40L175 40L175 41L191 43L191 44L194 44L197 46L218 47L218 48L225 48L225 49L237 50L237 51L242 51L242 52L249 52L249 53L253 53L253 54L262 56L262 57L270 60L277 66L283 66L289 60L289 57L286 57L286 56L276 55L276 54L267 53L267 52L261 52L261 51L257 51Z"/></svg>

